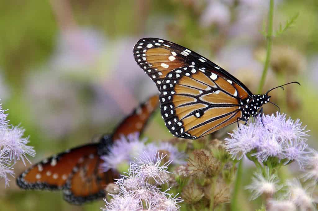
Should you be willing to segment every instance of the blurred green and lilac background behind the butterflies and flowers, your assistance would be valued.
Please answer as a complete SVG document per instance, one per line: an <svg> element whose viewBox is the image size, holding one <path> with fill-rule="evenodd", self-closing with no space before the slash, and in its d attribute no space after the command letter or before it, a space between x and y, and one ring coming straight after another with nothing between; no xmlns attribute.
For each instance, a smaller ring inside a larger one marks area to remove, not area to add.
<svg viewBox="0 0 318 211"><path fill-rule="evenodd" d="M257 91L266 54L262 35L267 0L24 0L0 1L0 98L10 123L21 123L43 158L110 133L156 87L135 64L142 37L167 39L211 59ZM276 0L274 28L299 13L293 28L274 38L263 91L282 112L318 135L318 1ZM266 21L265 21L266 22ZM265 113L276 108L265 106ZM226 130L231 130L228 127ZM226 131L223 131L225 133ZM145 137L171 138L157 112ZM15 165L16 174L26 167ZM244 184L253 166L246 165ZM293 173L293 169L288 172ZM0 181L3 182L3 181ZM255 210L260 200L242 206ZM0 184L0 210L99 210L103 201L72 206L59 192L22 191Z"/></svg>

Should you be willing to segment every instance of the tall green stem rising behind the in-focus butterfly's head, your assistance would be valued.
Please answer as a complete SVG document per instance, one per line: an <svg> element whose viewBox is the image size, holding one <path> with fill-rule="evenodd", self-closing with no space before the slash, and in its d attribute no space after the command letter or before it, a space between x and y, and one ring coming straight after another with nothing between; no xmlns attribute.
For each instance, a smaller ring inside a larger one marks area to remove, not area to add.
<svg viewBox="0 0 318 211"><path fill-rule="evenodd" d="M266 34L266 40L267 40L266 60L264 64L263 74L259 81L258 93L262 93L262 89L264 87L264 83L266 79L267 70L269 67L269 61L271 58L271 50L272 50L272 43L273 43L273 18L274 18L274 0L270 0L269 11L268 11L268 27L267 27L267 34Z"/></svg>

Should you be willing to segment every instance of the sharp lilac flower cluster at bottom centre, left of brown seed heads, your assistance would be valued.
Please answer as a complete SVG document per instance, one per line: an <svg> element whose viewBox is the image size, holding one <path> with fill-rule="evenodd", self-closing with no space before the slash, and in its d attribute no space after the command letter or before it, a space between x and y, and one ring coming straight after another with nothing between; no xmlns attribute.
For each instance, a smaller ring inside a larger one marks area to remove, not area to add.
<svg viewBox="0 0 318 211"><path fill-rule="evenodd" d="M170 188L162 191L159 187L168 182L168 166L171 161L163 163L166 155L147 154L142 155L130 164L126 175L117 179L118 194L110 194L112 199L105 199L105 211L113 210L179 210L178 203L182 202L180 197L168 193ZM162 164L163 163L163 164Z"/></svg>

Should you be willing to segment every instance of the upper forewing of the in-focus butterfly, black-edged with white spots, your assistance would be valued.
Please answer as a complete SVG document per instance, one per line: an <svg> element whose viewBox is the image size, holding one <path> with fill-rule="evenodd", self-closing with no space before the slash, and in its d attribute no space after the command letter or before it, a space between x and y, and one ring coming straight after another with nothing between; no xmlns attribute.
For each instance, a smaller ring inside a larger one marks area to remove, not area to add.
<svg viewBox="0 0 318 211"><path fill-rule="evenodd" d="M156 83L159 90L162 80L170 71L195 66L195 68L203 68L207 72L235 82L243 89L240 93L242 97L245 96L245 93L252 95L252 92L241 81L217 64L192 50L164 39L142 38L138 40L134 46L134 57L137 64Z"/></svg>

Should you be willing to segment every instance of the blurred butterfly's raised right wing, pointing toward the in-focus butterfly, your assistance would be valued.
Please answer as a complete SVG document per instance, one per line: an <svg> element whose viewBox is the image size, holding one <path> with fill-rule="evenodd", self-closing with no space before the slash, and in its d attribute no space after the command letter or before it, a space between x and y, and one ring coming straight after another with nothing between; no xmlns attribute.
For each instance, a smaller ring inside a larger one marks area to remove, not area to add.
<svg viewBox="0 0 318 211"><path fill-rule="evenodd" d="M113 140L121 135L127 136L134 132L142 133L150 116L159 105L159 95L151 96L146 102L141 103L129 116L117 126L113 133Z"/></svg>

